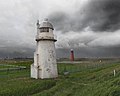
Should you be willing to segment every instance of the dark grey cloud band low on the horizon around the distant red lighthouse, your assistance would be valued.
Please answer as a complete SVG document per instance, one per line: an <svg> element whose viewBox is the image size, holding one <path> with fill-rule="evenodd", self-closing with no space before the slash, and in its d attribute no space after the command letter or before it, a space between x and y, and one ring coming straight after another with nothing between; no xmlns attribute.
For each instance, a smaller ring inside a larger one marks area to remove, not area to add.
<svg viewBox="0 0 120 96"><path fill-rule="evenodd" d="M120 47L77 48L74 49L75 58L82 57L120 57ZM70 49L57 49L58 57L70 57Z"/></svg>

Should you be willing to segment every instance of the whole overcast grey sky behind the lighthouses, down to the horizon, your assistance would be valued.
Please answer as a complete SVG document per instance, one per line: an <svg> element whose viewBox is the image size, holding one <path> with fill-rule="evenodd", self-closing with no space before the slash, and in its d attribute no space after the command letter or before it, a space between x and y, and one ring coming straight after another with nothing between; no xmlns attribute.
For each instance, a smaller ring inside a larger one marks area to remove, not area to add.
<svg viewBox="0 0 120 96"><path fill-rule="evenodd" d="M57 56L120 57L119 0L0 0L0 56L33 56L36 21L48 18Z"/></svg>

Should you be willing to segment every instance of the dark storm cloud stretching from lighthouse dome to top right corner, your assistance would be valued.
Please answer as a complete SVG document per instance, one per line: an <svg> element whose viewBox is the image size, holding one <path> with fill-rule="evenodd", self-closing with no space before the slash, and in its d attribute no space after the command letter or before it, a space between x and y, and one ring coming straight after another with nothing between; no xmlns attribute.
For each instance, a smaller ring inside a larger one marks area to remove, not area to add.
<svg viewBox="0 0 120 96"><path fill-rule="evenodd" d="M88 26L92 31L113 32L120 29L120 1L90 0L71 16L67 12L54 12L49 17L56 30L63 32L78 32Z"/></svg>

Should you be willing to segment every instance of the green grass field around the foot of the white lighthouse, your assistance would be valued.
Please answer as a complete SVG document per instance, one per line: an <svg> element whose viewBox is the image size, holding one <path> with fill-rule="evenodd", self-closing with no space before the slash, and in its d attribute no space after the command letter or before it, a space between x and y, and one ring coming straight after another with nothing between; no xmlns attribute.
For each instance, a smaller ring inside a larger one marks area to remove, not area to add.
<svg viewBox="0 0 120 96"><path fill-rule="evenodd" d="M30 78L32 61L7 64L27 69L0 72L0 96L120 96L119 62L58 64L59 77L45 80Z"/></svg>

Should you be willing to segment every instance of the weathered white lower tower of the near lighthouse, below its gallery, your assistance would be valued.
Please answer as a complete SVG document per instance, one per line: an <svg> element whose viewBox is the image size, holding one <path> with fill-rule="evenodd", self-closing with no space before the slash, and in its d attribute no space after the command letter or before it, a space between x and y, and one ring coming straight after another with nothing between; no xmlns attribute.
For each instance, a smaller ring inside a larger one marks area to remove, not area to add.
<svg viewBox="0 0 120 96"><path fill-rule="evenodd" d="M34 63L31 65L32 78L58 77L54 41L40 41L34 53Z"/></svg>

